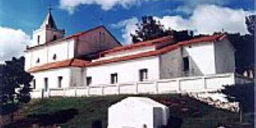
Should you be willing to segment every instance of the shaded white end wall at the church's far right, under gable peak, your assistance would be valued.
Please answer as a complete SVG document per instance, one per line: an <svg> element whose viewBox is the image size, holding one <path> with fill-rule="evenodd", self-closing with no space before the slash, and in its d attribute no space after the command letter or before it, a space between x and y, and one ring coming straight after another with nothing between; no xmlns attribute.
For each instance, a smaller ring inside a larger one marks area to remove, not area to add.
<svg viewBox="0 0 256 128"><path fill-rule="evenodd" d="M216 73L235 72L235 48L227 38L214 44Z"/></svg>

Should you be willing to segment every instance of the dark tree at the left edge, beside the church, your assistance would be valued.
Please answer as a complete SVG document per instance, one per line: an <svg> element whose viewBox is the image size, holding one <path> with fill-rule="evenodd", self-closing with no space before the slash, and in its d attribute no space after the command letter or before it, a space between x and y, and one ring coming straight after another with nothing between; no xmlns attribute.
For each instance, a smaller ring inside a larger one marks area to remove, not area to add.
<svg viewBox="0 0 256 128"><path fill-rule="evenodd" d="M25 58L12 58L0 65L0 114L11 114L20 103L29 102L33 76L24 70Z"/></svg>

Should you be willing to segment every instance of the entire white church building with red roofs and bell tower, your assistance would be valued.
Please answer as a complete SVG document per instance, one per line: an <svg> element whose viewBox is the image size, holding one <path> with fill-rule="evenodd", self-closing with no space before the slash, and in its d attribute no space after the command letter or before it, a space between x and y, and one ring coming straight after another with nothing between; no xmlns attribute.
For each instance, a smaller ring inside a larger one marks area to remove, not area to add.
<svg viewBox="0 0 256 128"><path fill-rule="evenodd" d="M207 79L208 76L235 72L235 49L224 34L182 42L166 36L122 46L104 26L65 36L65 31L57 28L49 11L40 28L33 31L33 41L35 45L25 50L25 70L34 76L34 91L41 93L83 88L76 94L88 95L93 93L90 88L101 87L99 94L109 91L119 94L120 91L131 90L121 87L125 83L177 78L198 80L199 77ZM234 76L231 77L232 80L217 81L234 84ZM211 78L209 80L212 81ZM104 91L103 85L112 89ZM195 83L186 86L193 88L193 85ZM136 86L137 93L143 92L143 88L148 89ZM169 86L172 87L171 84L165 87ZM180 84L178 86L182 88ZM161 89L159 84L157 91ZM156 89L152 90L155 92Z"/></svg>

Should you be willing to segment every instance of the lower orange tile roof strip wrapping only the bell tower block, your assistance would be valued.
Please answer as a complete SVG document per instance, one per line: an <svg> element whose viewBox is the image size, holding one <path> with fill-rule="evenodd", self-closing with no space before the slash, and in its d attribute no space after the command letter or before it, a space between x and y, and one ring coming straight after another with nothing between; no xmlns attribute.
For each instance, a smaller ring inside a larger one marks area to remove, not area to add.
<svg viewBox="0 0 256 128"><path fill-rule="evenodd" d="M33 72L38 72L38 71L43 71L48 69L56 69L61 67L84 67L85 64L87 63L90 63L90 61L84 61L84 60L73 58L69 60L57 61L57 62L52 62L52 63L32 67L28 70L28 72L33 73Z"/></svg>

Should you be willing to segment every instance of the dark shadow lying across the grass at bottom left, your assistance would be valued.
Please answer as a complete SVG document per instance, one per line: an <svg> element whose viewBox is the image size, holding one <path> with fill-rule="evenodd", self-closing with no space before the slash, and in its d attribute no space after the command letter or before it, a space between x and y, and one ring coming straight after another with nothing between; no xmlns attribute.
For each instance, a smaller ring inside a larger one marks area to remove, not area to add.
<svg viewBox="0 0 256 128"><path fill-rule="evenodd" d="M73 119L78 114L77 109L66 109L57 111L55 113L45 114L32 114L27 116L25 119L20 119L14 123L5 125L4 128L28 128L36 126L52 126L54 124L65 123L70 119Z"/></svg>

